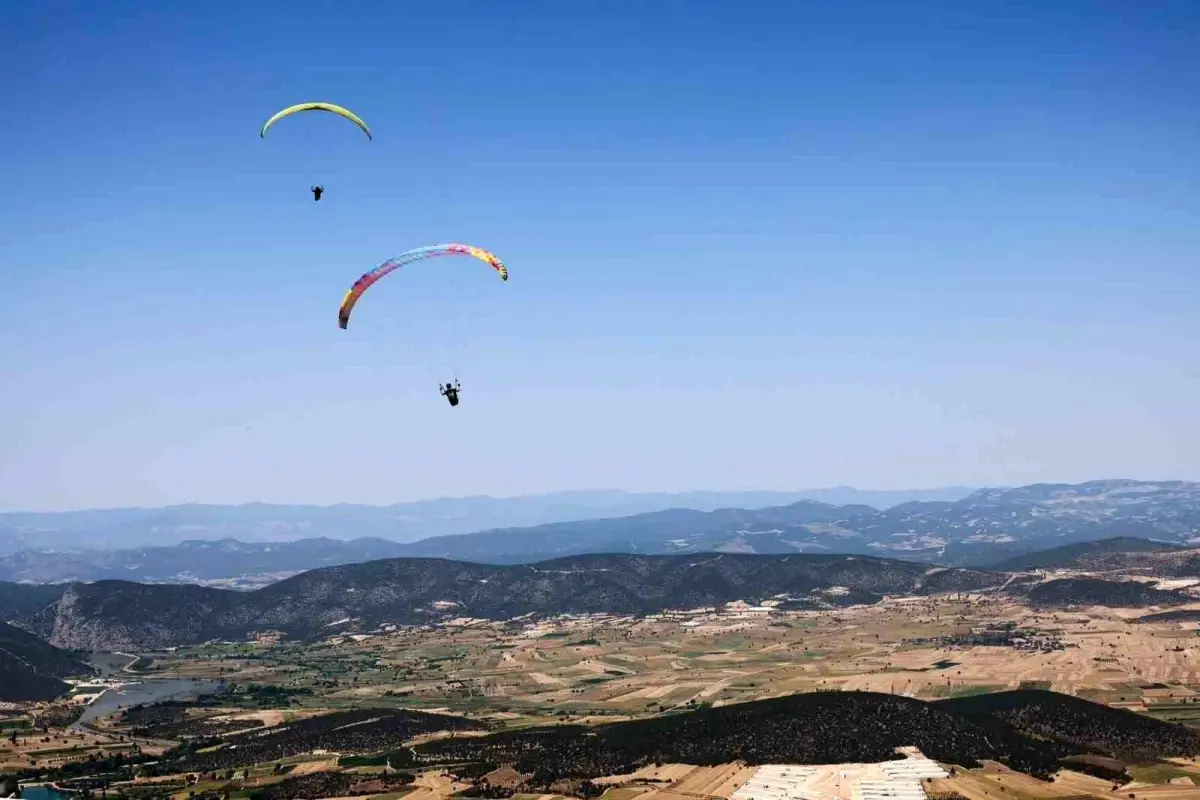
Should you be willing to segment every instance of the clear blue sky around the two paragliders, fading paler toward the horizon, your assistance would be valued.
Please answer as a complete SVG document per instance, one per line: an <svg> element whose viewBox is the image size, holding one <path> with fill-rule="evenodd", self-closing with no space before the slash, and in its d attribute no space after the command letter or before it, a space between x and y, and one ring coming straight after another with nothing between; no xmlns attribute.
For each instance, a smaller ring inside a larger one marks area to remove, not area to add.
<svg viewBox="0 0 1200 800"><path fill-rule="evenodd" d="M0 509L1200 479L1195 2L29 1L0 76ZM511 281L337 329L439 241Z"/></svg>

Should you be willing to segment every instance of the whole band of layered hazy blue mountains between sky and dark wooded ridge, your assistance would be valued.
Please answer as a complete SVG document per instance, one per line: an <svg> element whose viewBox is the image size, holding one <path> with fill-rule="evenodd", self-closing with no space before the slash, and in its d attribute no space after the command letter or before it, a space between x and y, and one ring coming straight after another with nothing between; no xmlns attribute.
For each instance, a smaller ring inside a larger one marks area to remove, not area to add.
<svg viewBox="0 0 1200 800"><path fill-rule="evenodd" d="M1046 548L1063 548L1060 557L1044 557L1052 561L1091 553L1088 542L1103 539L1158 540L1139 545L1153 552L1196 542L1198 536L1200 483L1111 480L979 489L956 501L908 501L887 509L815 500L760 509L667 509L407 543L378 537L226 539L108 552L24 551L0 557L0 581L128 579L258 588L305 570L380 558L523 564L583 553L702 552L848 553L1019 571L1038 566L1020 557Z"/></svg>

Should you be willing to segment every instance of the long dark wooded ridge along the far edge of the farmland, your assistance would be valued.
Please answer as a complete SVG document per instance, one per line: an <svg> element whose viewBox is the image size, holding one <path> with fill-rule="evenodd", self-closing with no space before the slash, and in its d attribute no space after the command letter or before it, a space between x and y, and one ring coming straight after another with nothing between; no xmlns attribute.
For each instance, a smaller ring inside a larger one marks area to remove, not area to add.
<svg viewBox="0 0 1200 800"><path fill-rule="evenodd" d="M641 614L772 596L830 608L1004 581L998 573L854 555L614 554L522 566L390 559L313 570L254 591L124 581L72 584L28 625L59 646L146 649L241 639L262 630L312 638L448 615ZM834 587L848 591L823 591Z"/></svg>

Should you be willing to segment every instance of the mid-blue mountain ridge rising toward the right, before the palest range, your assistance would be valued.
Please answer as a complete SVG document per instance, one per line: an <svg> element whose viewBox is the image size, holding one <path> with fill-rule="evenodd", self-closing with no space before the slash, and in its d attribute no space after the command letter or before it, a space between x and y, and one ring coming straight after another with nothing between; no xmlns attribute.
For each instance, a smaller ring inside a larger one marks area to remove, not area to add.
<svg viewBox="0 0 1200 800"><path fill-rule="evenodd" d="M882 511L802 501L779 509L672 510L623 519L443 536L407 555L520 563L578 552L836 552L959 566L1114 536L1187 542L1200 531L1200 483L1133 480L980 489L958 501Z"/></svg>

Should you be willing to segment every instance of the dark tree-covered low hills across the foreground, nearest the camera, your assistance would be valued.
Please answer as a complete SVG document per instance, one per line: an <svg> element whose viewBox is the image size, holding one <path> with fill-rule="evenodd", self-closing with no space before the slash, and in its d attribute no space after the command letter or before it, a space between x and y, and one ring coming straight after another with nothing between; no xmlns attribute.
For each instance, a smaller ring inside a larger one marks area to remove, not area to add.
<svg viewBox="0 0 1200 800"><path fill-rule="evenodd" d="M168 735L178 726L172 717L139 733ZM481 727L449 715L362 708L284 722L270 732L193 741L164 753L155 769L233 770L323 748L385 753L400 769L445 766L479 783L497 766L511 765L527 776L522 792L541 794L564 790L559 782L629 774L654 763L870 763L896 758L895 748L902 746L946 764L971 768L990 759L1043 778L1063 766L1122 777L1122 764L1098 766L1076 760L1080 756L1152 763L1200 753L1196 730L1044 691L934 703L875 692L810 692L629 722L544 726L404 746L420 733Z"/></svg>

